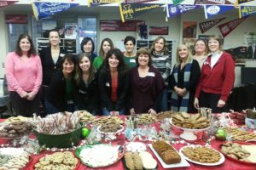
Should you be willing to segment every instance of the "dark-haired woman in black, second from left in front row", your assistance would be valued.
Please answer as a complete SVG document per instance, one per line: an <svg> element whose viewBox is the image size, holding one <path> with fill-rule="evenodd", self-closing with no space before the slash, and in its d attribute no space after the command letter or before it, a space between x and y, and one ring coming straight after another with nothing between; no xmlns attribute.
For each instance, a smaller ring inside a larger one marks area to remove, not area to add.
<svg viewBox="0 0 256 170"><path fill-rule="evenodd" d="M90 54L79 54L75 81L77 85L74 94L75 105L80 111L89 111L96 115L99 110L98 82Z"/></svg>

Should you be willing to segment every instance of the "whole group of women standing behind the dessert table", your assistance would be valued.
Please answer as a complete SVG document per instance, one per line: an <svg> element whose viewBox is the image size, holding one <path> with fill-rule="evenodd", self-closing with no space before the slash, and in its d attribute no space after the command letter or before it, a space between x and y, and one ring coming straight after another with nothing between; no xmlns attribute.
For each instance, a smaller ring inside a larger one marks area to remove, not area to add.
<svg viewBox="0 0 256 170"><path fill-rule="evenodd" d="M186 43L179 44L173 70L164 37L137 53L134 37L125 37L124 53L104 38L98 56L90 37L81 42L78 55L67 54L59 41L59 32L49 31L49 47L39 57L31 37L22 34L15 52L8 54L6 77L18 115L39 114L40 95L47 114L76 110L105 116L155 114L170 110L168 90L172 111L194 113L209 107L221 112L235 80L234 60L223 52L219 37L197 40L194 55Z"/></svg>

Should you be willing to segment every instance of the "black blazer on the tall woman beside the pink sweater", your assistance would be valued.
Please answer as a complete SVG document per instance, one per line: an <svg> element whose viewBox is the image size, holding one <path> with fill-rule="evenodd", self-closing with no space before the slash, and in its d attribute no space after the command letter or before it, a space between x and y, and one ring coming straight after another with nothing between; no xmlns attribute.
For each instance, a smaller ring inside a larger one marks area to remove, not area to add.
<svg viewBox="0 0 256 170"><path fill-rule="evenodd" d="M61 48L59 58L57 59L57 62L54 63L54 60L51 56L50 47L42 49L42 51L40 52L40 58L43 69L43 85L49 86L51 77L54 75L57 69L61 68L61 59L64 57L65 54L66 50L64 48Z"/></svg>

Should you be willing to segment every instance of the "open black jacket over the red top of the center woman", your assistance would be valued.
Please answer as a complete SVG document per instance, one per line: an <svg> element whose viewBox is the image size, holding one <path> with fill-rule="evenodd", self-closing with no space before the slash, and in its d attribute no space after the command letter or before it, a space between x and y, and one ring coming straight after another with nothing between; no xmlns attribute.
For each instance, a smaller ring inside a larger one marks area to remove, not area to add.
<svg viewBox="0 0 256 170"><path fill-rule="evenodd" d="M99 89L102 108L107 108L108 111L121 111L125 108L127 93L129 90L130 75L129 71L118 73L118 100L116 103L111 101L111 75L102 68L99 72Z"/></svg>

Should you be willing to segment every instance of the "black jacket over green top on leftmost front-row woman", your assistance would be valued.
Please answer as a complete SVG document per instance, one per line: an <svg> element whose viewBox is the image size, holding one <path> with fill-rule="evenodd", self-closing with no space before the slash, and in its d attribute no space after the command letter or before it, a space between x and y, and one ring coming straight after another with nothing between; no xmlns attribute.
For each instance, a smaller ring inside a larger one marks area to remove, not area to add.
<svg viewBox="0 0 256 170"><path fill-rule="evenodd" d="M75 82L72 81L75 87ZM59 111L67 111L66 81L61 69L55 72L46 93L51 105L54 105Z"/></svg>

